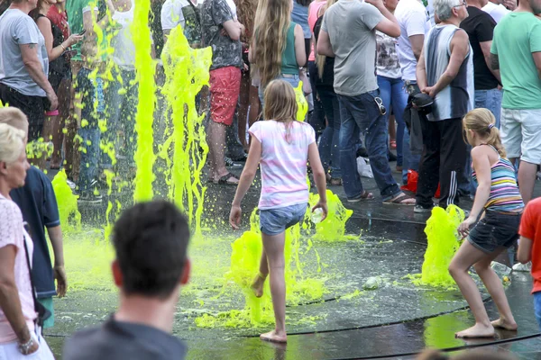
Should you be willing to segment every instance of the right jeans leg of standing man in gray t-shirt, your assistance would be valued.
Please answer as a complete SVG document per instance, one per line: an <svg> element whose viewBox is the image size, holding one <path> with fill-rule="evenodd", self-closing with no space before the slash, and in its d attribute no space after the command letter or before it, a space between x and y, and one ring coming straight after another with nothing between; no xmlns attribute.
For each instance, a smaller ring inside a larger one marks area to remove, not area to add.
<svg viewBox="0 0 541 360"><path fill-rule="evenodd" d="M401 192L390 172L387 158L387 121L380 114L380 109L374 100L374 97L379 94L380 91L376 90L351 97L350 111L357 126L365 134L370 166L381 197L383 201L388 201Z"/></svg>

